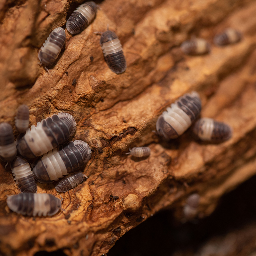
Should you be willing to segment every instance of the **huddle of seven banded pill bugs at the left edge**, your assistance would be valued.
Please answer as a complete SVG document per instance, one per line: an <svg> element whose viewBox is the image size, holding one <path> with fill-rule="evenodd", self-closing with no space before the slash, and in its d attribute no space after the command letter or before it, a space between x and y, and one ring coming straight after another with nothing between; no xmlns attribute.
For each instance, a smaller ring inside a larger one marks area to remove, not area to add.
<svg viewBox="0 0 256 256"><path fill-rule="evenodd" d="M36 180L52 183L61 179L55 187L58 192L76 187L86 177L79 169L89 161L92 151L82 140L64 143L76 131L76 121L68 113L47 117L31 129L28 125L26 105L17 110L15 126L21 133L16 141L12 126L0 124L0 157L11 162L12 175L22 193L9 196L7 205L12 211L24 215L51 216L59 211L61 201L50 194L36 194ZM36 160L29 164L28 160L35 157Z"/></svg>

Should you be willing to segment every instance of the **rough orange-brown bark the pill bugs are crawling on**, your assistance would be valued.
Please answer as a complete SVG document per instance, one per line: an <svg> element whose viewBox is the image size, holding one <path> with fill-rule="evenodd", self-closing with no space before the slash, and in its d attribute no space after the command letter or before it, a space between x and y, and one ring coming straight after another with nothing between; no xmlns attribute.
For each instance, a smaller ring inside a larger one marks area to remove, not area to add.
<svg viewBox="0 0 256 256"><path fill-rule="evenodd" d="M101 255L161 209L175 207L183 219L182 206L193 192L201 196L198 216L211 214L220 196L256 173L255 1L103 1L86 30L74 36L66 31L65 50L47 73L38 65L38 49L77 5L71 0L0 4L0 121L14 126L20 104L30 108L30 125L65 111L77 122L72 140L92 148L84 168L89 178L77 188L59 195L54 184L38 184L38 193L63 197L64 211L53 217L8 209L6 196L19 190L2 163L0 252L5 255L57 249ZM108 69L93 33L108 25L124 47L128 67L121 75ZM180 44L191 36L212 43L228 27L243 34L240 43L212 44L204 56L181 53ZM230 140L198 143L188 131L165 142L152 132L163 110L192 90L200 93L202 117L233 127ZM144 145L151 148L148 158L125 155Z"/></svg>

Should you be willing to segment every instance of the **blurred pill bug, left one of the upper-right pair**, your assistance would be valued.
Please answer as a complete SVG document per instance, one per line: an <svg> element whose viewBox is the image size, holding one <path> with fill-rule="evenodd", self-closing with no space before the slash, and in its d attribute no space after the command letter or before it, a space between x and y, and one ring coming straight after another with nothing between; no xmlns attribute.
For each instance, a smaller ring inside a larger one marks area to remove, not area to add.
<svg viewBox="0 0 256 256"><path fill-rule="evenodd" d="M210 52L211 46L203 38L185 41L180 46L182 52L188 55L200 55Z"/></svg>

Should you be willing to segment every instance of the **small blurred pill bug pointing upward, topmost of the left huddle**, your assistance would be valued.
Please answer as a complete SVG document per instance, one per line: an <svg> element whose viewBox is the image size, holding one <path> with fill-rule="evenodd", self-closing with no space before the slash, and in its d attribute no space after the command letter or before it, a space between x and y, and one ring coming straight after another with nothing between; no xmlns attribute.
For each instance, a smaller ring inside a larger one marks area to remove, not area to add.
<svg viewBox="0 0 256 256"><path fill-rule="evenodd" d="M19 132L25 132L29 125L29 109L28 106L23 104L17 109L15 117L15 126Z"/></svg>

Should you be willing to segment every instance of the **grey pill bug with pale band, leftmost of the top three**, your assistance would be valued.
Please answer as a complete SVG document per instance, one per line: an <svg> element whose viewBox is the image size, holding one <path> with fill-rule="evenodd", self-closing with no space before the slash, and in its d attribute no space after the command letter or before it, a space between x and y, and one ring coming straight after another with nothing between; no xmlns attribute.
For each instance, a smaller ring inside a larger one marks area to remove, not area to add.
<svg viewBox="0 0 256 256"><path fill-rule="evenodd" d="M38 52L40 62L45 66L52 65L58 58L65 41L65 30L63 28L55 28Z"/></svg>

